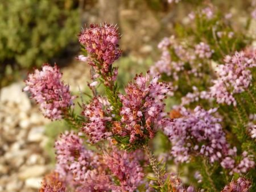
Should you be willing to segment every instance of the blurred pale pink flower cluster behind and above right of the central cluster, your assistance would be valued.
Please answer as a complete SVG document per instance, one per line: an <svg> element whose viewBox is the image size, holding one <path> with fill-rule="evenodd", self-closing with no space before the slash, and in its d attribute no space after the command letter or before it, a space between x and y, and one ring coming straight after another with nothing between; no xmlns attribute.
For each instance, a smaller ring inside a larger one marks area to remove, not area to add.
<svg viewBox="0 0 256 192"><path fill-rule="evenodd" d="M212 56L213 50L206 43L199 43L194 48L188 47L185 43L180 43L174 36L170 38L164 37L158 44L158 48L162 51L160 60L151 66L151 74L165 74L174 79L174 84L178 84L180 76L195 76L201 77L202 64L195 62L196 59L209 59ZM189 64L190 70L186 70L184 74L184 65ZM174 90L177 86L174 87Z"/></svg>

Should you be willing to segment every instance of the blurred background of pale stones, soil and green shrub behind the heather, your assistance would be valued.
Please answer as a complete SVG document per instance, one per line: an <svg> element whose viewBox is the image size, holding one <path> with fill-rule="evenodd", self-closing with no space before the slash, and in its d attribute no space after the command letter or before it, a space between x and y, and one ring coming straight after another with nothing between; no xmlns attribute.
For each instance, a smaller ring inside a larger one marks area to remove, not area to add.
<svg viewBox="0 0 256 192"><path fill-rule="evenodd" d="M250 2L214 4L236 12ZM43 118L22 92L29 71L56 62L73 93L86 91L89 66L76 59L77 34L84 24L117 23L123 53L115 65L122 89L158 60L158 42L172 35L175 23L189 24L189 12L189 4L167 0L0 0L0 191L38 191L54 165L54 140L67 129Z"/></svg>

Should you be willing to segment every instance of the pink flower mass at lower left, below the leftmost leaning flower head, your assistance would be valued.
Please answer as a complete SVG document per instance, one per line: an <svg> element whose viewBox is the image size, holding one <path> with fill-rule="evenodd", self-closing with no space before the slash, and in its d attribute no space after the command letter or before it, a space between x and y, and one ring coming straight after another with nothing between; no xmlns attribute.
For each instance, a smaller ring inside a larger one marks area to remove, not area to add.
<svg viewBox="0 0 256 192"><path fill-rule="evenodd" d="M65 132L55 143L56 172L76 191L108 191L112 185L110 176L104 172L106 165L102 156L90 151L74 132Z"/></svg>

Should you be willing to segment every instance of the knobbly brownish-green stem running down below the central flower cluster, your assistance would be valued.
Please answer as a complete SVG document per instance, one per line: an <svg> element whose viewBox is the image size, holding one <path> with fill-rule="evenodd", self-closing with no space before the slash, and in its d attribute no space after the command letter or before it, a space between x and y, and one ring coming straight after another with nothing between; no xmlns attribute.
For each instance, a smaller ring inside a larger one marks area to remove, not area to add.
<svg viewBox="0 0 256 192"><path fill-rule="evenodd" d="M153 152L151 151L150 147L148 147L148 145L143 145L143 148L147 154L147 157L150 161L150 165L152 167L152 170L155 174L155 177L156 177L156 180L158 181L159 183L159 186L162 187L163 186L163 181L162 181L162 178L160 176L160 171L158 169L158 164L156 163L156 159L154 157L154 154Z"/></svg>

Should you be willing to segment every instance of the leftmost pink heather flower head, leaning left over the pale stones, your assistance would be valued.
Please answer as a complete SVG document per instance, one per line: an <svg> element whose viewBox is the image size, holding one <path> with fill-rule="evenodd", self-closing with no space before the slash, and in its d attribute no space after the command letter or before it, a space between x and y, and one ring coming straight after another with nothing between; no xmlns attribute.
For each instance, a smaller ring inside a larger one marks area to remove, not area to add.
<svg viewBox="0 0 256 192"><path fill-rule="evenodd" d="M69 86L61 81L62 74L59 68L48 64L43 65L42 70L36 69L28 74L24 91L29 91L32 98L40 104L43 115L49 119L63 118L63 112L73 105L73 99Z"/></svg>

